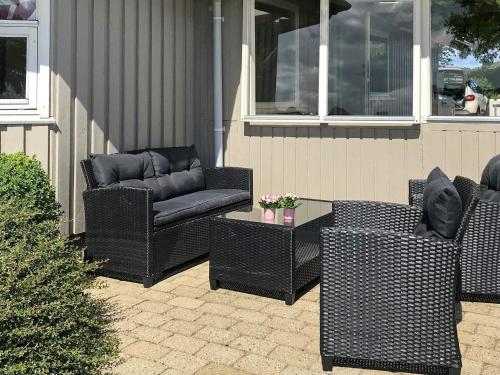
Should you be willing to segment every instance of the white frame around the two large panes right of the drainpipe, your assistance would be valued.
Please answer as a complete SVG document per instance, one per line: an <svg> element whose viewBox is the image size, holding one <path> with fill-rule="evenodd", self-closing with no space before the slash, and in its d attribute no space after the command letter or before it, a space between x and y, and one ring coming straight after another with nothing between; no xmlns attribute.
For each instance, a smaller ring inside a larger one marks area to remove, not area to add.
<svg viewBox="0 0 500 375"><path fill-rule="evenodd" d="M320 0L318 116L255 115L255 0L244 0L241 119L253 125L413 126L421 120L422 0L413 0L412 116L328 116L329 0ZM429 0L423 0L424 2Z"/></svg>

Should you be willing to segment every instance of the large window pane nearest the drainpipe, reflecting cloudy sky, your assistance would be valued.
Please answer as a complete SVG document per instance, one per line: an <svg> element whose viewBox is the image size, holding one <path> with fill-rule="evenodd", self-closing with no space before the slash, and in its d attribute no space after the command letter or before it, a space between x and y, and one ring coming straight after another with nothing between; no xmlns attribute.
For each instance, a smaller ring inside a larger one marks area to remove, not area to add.
<svg viewBox="0 0 500 375"><path fill-rule="evenodd" d="M255 1L255 112L317 115L319 0Z"/></svg>

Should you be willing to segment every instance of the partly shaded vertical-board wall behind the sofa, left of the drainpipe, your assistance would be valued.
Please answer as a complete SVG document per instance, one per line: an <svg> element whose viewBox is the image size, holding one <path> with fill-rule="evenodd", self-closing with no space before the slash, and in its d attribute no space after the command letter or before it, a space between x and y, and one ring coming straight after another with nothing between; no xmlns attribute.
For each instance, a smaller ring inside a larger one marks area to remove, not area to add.
<svg viewBox="0 0 500 375"><path fill-rule="evenodd" d="M42 158L65 212L65 231L84 231L79 163L89 153L196 143L205 163L212 160L205 111L211 104L204 91L211 46L203 45L211 37L209 4L52 0L56 124L0 128L0 139L2 151L15 148Z"/></svg>

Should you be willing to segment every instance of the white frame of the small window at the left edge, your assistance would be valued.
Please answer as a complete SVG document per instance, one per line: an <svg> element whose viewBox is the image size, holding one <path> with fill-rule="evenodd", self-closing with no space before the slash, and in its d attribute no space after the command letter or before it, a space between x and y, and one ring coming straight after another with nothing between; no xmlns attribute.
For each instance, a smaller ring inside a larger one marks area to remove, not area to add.
<svg viewBox="0 0 500 375"><path fill-rule="evenodd" d="M26 99L0 100L0 124L53 123L50 117L50 0L37 0L36 21L0 20L1 36L24 36Z"/></svg>

